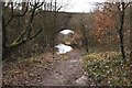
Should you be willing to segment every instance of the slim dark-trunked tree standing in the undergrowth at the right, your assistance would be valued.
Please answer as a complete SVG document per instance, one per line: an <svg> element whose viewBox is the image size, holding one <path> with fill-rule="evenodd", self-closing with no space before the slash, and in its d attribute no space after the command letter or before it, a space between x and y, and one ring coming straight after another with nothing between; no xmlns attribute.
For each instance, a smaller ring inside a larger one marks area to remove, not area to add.
<svg viewBox="0 0 132 88"><path fill-rule="evenodd" d="M124 30L124 20L125 20L125 9L129 7L130 2L124 2L121 0L121 2L106 2L103 3L103 9L113 12L116 16L118 16L119 22L116 24L116 28L119 33L119 38L120 38L120 50L122 54L122 58L125 61L125 52L124 52L124 35L123 35L123 30Z"/></svg>

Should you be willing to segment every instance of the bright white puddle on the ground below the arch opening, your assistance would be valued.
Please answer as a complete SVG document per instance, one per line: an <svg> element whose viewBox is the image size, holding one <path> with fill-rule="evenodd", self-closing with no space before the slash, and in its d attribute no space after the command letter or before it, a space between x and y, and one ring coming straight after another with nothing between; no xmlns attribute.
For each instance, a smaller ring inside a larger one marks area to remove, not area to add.
<svg viewBox="0 0 132 88"><path fill-rule="evenodd" d="M65 54L65 53L67 53L67 52L73 51L73 47L72 47L72 46L68 46L68 45L65 45L65 44L62 44L62 43L58 44L58 45L56 45L55 47L58 48L57 54Z"/></svg>

